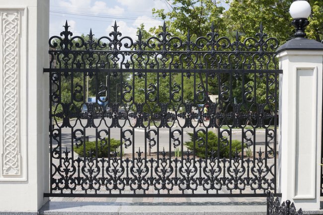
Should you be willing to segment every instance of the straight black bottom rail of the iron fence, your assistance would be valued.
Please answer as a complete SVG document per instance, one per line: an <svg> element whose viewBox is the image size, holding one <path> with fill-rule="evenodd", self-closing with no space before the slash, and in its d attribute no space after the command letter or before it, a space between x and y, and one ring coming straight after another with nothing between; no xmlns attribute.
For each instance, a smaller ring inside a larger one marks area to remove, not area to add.
<svg viewBox="0 0 323 215"><path fill-rule="evenodd" d="M273 193L275 197L281 197L281 193ZM44 193L44 197L122 197L122 198L152 198L152 197L267 197L267 194L81 194L81 193Z"/></svg>

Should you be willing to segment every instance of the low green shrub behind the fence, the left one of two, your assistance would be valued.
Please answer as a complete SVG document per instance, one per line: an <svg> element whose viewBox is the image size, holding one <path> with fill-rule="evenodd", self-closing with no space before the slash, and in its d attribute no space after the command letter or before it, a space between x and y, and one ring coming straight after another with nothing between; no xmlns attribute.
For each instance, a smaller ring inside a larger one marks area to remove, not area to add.
<svg viewBox="0 0 323 215"><path fill-rule="evenodd" d="M106 144L105 144L106 143ZM84 144L84 143L83 143ZM105 139L105 141L98 141L97 142L97 150L98 154L97 157L108 157L109 147L108 147L108 139ZM79 147L74 146L74 151L79 154L81 157L83 157L83 150L84 145L80 145ZM86 157L89 157L89 151L92 151L92 156L95 156L96 151L96 145L95 141L92 142L85 142L85 153ZM117 151L120 153L120 141L115 140L113 138L110 139L110 152ZM119 156L120 154L118 154Z"/></svg>

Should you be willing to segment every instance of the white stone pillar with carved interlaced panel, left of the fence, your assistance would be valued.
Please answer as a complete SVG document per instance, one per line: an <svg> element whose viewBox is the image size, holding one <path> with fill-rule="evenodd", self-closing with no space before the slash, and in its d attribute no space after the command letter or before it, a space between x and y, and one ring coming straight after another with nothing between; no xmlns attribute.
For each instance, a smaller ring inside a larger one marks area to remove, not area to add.
<svg viewBox="0 0 323 215"><path fill-rule="evenodd" d="M0 32L0 213L37 213L49 189L49 0L1 0Z"/></svg>

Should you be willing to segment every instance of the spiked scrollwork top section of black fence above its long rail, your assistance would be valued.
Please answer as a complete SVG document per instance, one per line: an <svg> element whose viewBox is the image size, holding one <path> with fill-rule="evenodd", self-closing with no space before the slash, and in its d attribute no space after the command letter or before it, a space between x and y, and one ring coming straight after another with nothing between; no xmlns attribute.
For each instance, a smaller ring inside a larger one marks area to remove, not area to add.
<svg viewBox="0 0 323 215"><path fill-rule="evenodd" d="M191 41L189 31L185 41L171 37L165 23L158 37L145 40L139 30L136 41L128 36L122 37L116 23L109 36L95 39L90 30L86 41L80 36L72 37L73 33L68 28L66 22L61 36L53 36L49 40L51 49L55 49L49 51L51 64L57 60L58 68L278 69L275 53L278 41L268 38L262 24L256 37L248 37L244 41L241 41L238 31L233 41L219 37L213 23L211 32L195 41Z"/></svg>

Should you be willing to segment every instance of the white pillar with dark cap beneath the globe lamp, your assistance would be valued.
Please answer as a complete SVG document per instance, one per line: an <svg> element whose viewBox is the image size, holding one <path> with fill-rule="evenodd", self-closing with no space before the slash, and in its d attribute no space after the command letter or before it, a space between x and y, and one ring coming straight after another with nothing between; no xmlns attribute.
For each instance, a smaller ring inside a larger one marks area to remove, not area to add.
<svg viewBox="0 0 323 215"><path fill-rule="evenodd" d="M320 209L323 44L293 39L278 50L279 182L282 201Z"/></svg>

